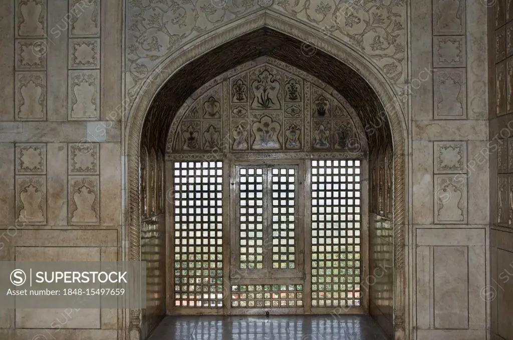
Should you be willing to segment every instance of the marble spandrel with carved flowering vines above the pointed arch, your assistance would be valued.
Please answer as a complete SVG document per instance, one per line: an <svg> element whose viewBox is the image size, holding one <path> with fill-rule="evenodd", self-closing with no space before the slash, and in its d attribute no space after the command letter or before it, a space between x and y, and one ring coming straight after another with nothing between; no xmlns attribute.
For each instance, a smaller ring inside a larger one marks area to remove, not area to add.
<svg viewBox="0 0 513 340"><path fill-rule="evenodd" d="M187 42L254 10L279 13L313 26L369 56L391 82L403 77L405 1L340 1L336 4L242 0L213 6L198 2L130 1L127 5L129 98L155 66Z"/></svg>

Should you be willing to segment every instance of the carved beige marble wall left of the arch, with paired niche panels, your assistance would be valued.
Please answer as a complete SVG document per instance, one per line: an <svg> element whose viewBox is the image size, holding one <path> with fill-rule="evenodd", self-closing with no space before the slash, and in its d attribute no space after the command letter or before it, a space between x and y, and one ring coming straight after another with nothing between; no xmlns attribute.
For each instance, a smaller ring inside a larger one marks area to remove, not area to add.
<svg viewBox="0 0 513 340"><path fill-rule="evenodd" d="M1 261L122 259L122 8L0 4ZM62 313L2 311L0 338L112 339L122 320L81 310L53 329Z"/></svg>

